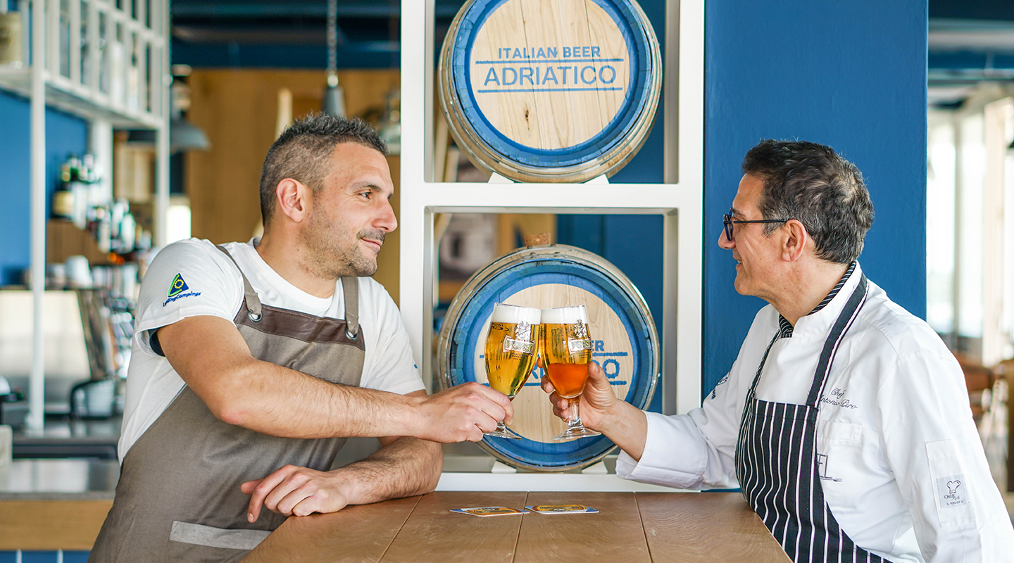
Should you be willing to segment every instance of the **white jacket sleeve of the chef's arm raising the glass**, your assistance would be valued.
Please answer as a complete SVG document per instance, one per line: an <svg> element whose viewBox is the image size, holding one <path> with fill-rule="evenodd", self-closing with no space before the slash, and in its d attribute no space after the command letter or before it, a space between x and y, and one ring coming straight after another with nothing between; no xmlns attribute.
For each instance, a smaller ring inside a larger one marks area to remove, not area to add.
<svg viewBox="0 0 1014 563"><path fill-rule="evenodd" d="M622 453L617 475L680 489L737 487L734 457L742 412L740 386L741 382L726 376L701 408L675 416L646 413L648 435L641 461Z"/></svg>

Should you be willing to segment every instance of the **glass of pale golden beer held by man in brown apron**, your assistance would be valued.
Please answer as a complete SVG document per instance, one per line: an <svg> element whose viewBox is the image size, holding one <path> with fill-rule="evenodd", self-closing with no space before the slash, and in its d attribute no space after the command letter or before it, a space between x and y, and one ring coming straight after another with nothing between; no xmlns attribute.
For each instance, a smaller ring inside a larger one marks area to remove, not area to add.
<svg viewBox="0 0 1014 563"><path fill-rule="evenodd" d="M490 387L511 399L535 367L541 313L538 309L506 303L493 306L490 333L486 337L486 377ZM486 435L521 439L503 420Z"/></svg>

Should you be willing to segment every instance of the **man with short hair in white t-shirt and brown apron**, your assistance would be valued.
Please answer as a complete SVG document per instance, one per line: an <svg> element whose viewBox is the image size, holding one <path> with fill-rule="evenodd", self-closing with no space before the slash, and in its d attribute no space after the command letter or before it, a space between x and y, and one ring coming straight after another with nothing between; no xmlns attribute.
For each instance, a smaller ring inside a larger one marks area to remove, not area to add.
<svg viewBox="0 0 1014 563"><path fill-rule="evenodd" d="M153 260L90 561L236 561L288 515L432 491L436 443L511 417L478 384L427 396L397 308L367 277L396 227L384 150L357 119L300 119L265 160L263 237ZM382 448L331 470L347 436Z"/></svg>

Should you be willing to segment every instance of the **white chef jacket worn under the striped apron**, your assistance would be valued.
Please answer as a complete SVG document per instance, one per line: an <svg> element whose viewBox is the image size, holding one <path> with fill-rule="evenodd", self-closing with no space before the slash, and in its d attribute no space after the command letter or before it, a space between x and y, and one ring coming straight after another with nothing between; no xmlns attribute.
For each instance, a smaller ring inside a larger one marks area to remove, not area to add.
<svg viewBox="0 0 1014 563"><path fill-rule="evenodd" d="M806 402L820 349L862 271L857 265L820 311L771 347L757 382L762 401ZM746 394L779 330L768 305L732 370L701 408L646 413L640 462L625 479L677 488L737 487L735 450ZM890 561L1014 561L1014 529L971 418L964 376L923 320L869 283L819 398L816 451L824 499L860 547Z"/></svg>

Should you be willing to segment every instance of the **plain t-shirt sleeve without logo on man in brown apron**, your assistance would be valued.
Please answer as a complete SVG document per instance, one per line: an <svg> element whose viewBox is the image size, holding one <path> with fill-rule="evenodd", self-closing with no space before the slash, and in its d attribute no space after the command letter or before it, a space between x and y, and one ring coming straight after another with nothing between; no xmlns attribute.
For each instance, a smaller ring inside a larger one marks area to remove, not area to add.
<svg viewBox="0 0 1014 563"><path fill-rule="evenodd" d="M409 331L390 295L369 277L360 278L359 291L360 318L371 315L375 319L370 327L374 334L366 335L372 349L367 349L360 387L400 395L426 389L412 356Z"/></svg>

